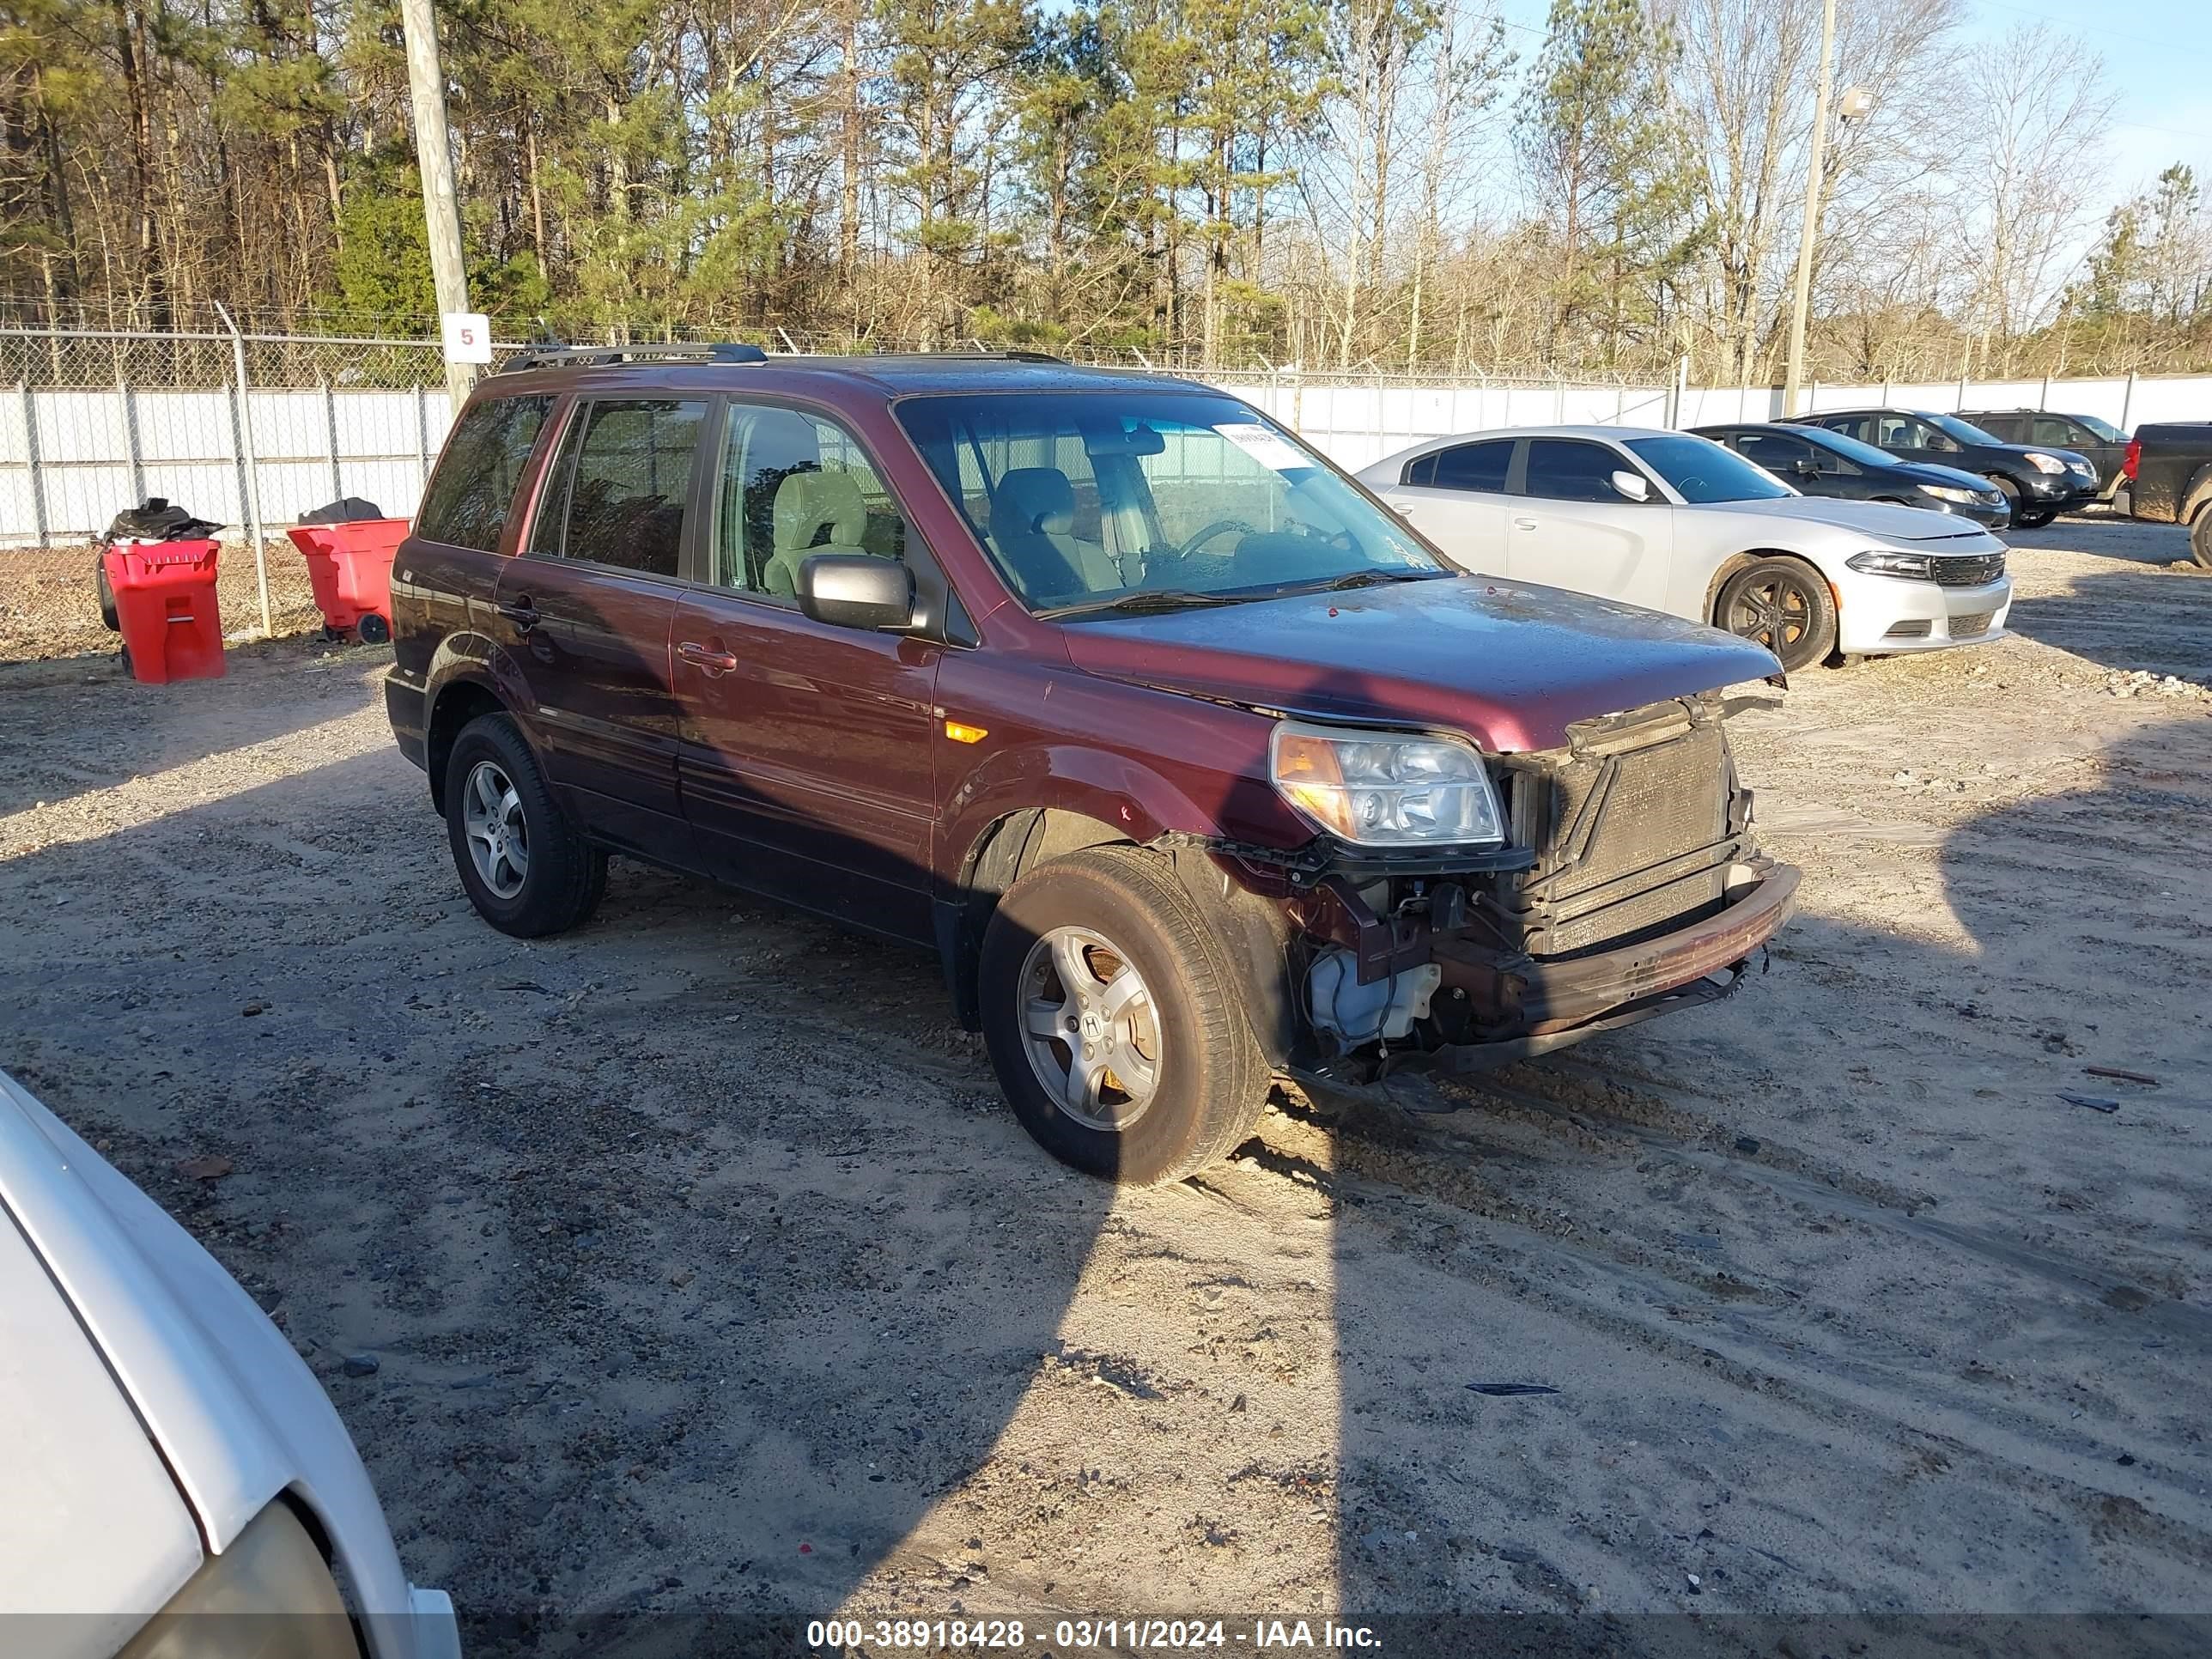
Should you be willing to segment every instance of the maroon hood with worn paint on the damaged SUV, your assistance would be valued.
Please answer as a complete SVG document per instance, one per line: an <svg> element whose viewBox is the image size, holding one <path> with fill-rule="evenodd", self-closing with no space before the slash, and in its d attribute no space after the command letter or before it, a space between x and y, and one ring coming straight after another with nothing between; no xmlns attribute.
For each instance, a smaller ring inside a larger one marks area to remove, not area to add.
<svg viewBox="0 0 2212 1659"><path fill-rule="evenodd" d="M1486 750L1548 750L1595 714L1765 679L1761 646L1562 588L1462 575L1294 593L1064 630L1077 668L1141 686L1438 726Z"/></svg>

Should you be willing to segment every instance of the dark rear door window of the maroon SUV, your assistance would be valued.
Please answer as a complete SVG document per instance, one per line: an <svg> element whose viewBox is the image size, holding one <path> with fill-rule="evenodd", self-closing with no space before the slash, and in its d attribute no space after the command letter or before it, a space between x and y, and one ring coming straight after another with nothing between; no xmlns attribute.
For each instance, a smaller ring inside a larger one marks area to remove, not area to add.
<svg viewBox="0 0 2212 1659"><path fill-rule="evenodd" d="M703 425L697 398L580 407L538 502L531 553L675 575Z"/></svg>

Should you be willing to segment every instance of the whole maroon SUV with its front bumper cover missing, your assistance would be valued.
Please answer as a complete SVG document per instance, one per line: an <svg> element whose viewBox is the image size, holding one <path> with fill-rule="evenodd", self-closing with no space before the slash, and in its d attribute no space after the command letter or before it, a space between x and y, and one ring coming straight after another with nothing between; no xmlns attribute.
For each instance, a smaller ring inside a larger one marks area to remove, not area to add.
<svg viewBox="0 0 2212 1659"><path fill-rule="evenodd" d="M476 909L608 854L933 949L1022 1124L1130 1183L1725 995L1796 872L1745 639L1467 575L1232 396L1024 354L564 349L469 398L392 577Z"/></svg>

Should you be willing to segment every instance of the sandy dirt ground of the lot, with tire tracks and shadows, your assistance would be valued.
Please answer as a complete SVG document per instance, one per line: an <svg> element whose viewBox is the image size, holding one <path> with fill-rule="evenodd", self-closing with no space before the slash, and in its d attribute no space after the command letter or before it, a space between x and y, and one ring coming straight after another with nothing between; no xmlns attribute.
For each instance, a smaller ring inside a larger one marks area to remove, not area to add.
<svg viewBox="0 0 2212 1659"><path fill-rule="evenodd" d="M2004 644L1741 699L1770 971L1451 1117L1117 1197L929 958L633 865L493 933L387 653L305 639L0 670L0 1066L274 1310L478 1650L2205 1613L2212 577L2013 542Z"/></svg>

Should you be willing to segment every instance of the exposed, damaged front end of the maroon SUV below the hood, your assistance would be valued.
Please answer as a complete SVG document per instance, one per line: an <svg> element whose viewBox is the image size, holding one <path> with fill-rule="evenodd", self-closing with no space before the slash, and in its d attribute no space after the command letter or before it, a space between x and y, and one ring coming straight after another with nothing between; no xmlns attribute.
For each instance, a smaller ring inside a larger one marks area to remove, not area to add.
<svg viewBox="0 0 2212 1659"><path fill-rule="evenodd" d="M1502 845L1214 847L1283 918L1292 1075L1478 1071L1728 995L1798 872L1752 841L1717 697L1489 757Z"/></svg>

